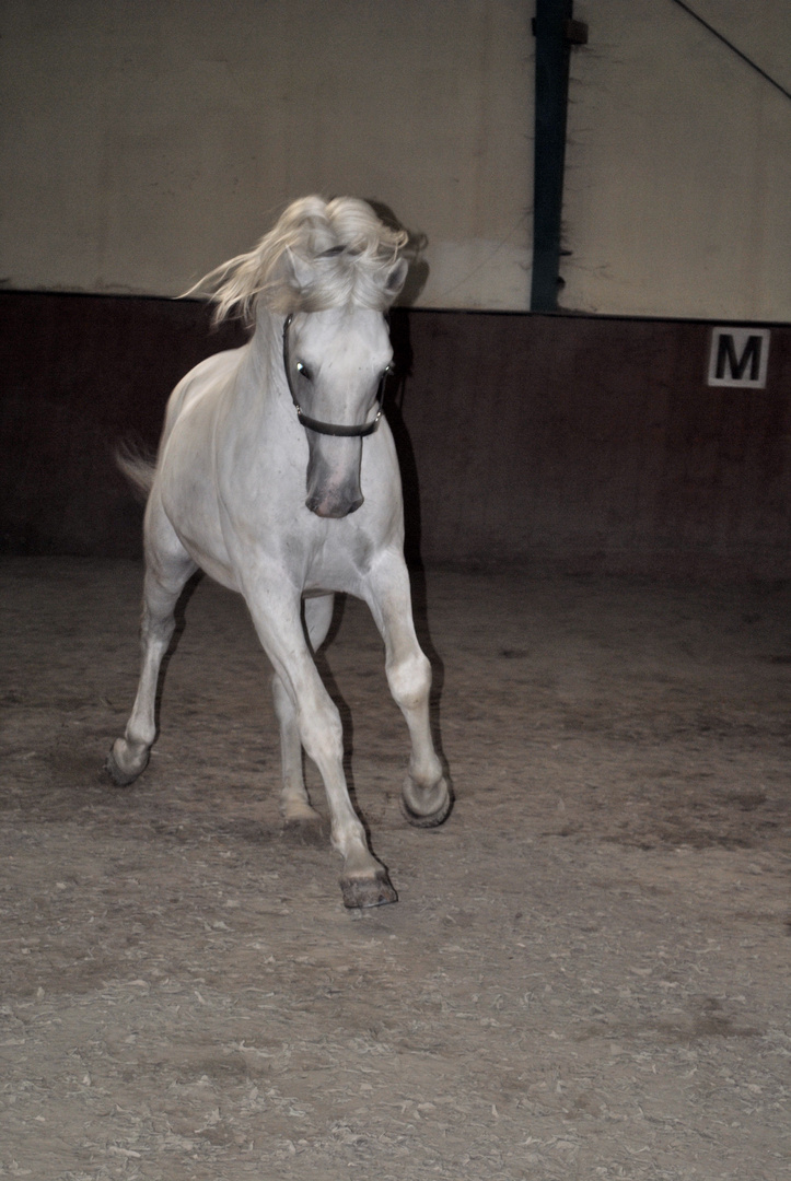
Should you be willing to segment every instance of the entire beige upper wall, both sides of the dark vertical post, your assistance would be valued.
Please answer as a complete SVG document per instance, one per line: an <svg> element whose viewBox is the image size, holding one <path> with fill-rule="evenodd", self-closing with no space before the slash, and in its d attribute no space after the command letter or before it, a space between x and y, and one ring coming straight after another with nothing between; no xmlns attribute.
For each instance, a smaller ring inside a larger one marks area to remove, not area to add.
<svg viewBox="0 0 791 1181"><path fill-rule="evenodd" d="M695 8L791 90L787 0ZM427 235L427 307L525 309L530 0L5 0L0 275L175 295L305 193ZM791 319L791 102L673 0L577 0L562 305Z"/></svg>

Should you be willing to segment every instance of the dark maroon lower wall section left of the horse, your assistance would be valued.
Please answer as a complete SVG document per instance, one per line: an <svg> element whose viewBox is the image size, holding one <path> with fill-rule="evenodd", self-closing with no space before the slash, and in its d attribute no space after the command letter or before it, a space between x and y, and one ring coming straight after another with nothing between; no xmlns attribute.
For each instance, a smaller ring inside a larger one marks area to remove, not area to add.
<svg viewBox="0 0 791 1181"><path fill-rule="evenodd" d="M142 510L115 448L154 449L180 377L244 339L195 302L0 295L2 549L137 556Z"/></svg>

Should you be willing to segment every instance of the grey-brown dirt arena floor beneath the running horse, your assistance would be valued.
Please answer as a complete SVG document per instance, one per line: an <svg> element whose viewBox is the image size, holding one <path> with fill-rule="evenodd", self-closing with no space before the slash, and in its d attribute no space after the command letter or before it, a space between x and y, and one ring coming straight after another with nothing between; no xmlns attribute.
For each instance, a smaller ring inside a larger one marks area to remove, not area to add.
<svg viewBox="0 0 791 1181"><path fill-rule="evenodd" d="M320 659L400 895L361 913L280 831L266 661L208 580L149 770L104 782L140 585L0 563L1 1177L790 1175L791 587L417 578L435 831L349 600Z"/></svg>

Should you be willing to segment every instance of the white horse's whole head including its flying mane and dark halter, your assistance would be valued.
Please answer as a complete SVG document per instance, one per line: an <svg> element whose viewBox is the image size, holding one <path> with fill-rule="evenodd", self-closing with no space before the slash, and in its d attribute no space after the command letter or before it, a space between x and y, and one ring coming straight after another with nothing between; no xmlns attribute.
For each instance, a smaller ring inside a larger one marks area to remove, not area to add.
<svg viewBox="0 0 791 1181"><path fill-rule="evenodd" d="M216 320L285 318L285 373L310 448L305 503L318 516L363 503L363 439L393 355L383 313L407 278L408 237L365 201L303 197L197 285L214 288Z"/></svg>

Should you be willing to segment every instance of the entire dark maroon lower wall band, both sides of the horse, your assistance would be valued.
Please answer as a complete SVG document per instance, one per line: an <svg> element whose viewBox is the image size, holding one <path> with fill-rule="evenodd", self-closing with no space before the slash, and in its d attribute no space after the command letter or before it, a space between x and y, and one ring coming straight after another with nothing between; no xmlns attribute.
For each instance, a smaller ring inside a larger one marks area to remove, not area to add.
<svg viewBox="0 0 791 1181"><path fill-rule="evenodd" d="M5 293L0 313L0 546L138 555L114 448L155 445L179 378L244 333L170 300ZM791 328L761 391L706 385L709 333L396 311L413 560L791 576Z"/></svg>

